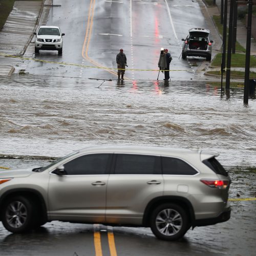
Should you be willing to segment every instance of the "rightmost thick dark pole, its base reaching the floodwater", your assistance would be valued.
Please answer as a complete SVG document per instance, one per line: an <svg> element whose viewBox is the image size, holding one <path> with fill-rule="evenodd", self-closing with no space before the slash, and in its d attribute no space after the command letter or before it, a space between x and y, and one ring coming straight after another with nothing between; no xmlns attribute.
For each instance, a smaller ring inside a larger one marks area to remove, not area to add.
<svg viewBox="0 0 256 256"><path fill-rule="evenodd" d="M252 19L252 0L248 0L248 20L245 53L245 75L244 75L244 104L248 104L249 82L250 82L250 51L251 51L251 19Z"/></svg>

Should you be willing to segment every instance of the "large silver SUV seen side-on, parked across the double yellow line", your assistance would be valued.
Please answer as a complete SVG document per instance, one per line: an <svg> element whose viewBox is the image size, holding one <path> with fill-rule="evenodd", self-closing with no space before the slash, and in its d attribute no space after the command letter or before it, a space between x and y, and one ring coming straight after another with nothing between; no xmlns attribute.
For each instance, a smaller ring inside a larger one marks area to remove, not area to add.
<svg viewBox="0 0 256 256"><path fill-rule="evenodd" d="M177 240L230 218L230 178L218 154L104 145L46 167L0 171L0 218L22 233L50 221L151 227Z"/></svg>

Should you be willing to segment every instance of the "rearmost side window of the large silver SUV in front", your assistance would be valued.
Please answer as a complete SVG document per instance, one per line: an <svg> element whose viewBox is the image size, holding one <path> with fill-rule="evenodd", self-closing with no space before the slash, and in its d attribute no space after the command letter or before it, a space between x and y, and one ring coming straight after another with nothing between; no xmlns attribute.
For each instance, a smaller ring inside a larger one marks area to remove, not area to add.
<svg viewBox="0 0 256 256"><path fill-rule="evenodd" d="M162 157L163 175L195 175L197 170L181 159Z"/></svg>

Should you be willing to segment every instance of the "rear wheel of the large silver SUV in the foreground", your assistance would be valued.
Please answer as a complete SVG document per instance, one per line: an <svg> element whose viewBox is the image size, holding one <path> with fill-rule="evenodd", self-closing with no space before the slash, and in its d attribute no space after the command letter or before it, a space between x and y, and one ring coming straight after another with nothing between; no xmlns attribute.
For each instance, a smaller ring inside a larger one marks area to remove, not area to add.
<svg viewBox="0 0 256 256"><path fill-rule="evenodd" d="M174 241L182 238L188 229L188 218L177 204L158 206L151 217L151 230L162 240Z"/></svg>

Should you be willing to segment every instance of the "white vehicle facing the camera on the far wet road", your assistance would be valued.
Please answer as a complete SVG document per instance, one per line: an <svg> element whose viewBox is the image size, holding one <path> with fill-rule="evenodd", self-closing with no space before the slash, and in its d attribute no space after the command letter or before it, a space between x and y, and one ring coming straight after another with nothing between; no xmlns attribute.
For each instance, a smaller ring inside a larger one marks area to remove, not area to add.
<svg viewBox="0 0 256 256"><path fill-rule="evenodd" d="M35 37L35 53L39 50L57 50L58 54L62 54L62 36L57 26L40 26L37 32L34 32Z"/></svg>

